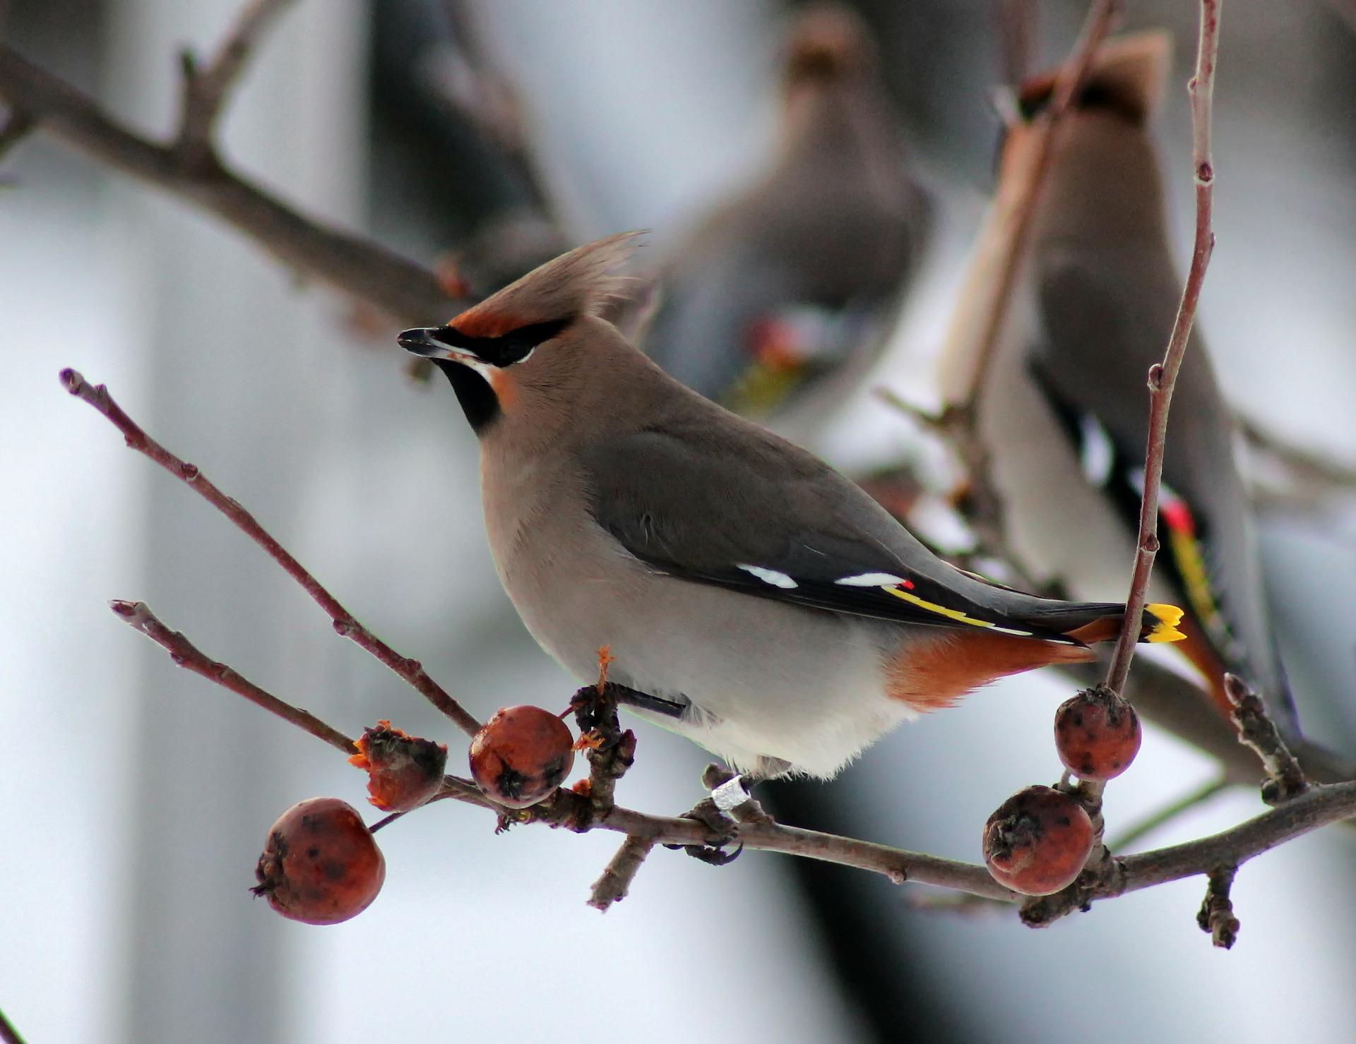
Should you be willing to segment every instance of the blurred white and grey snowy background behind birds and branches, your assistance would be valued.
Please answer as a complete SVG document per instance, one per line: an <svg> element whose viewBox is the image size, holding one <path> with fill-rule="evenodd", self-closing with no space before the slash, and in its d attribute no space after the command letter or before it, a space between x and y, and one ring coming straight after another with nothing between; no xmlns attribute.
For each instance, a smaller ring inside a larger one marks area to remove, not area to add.
<svg viewBox="0 0 1356 1044"><path fill-rule="evenodd" d="M9 23L26 54L163 134L175 50L210 50L236 5L19 0ZM900 94L949 207L948 260L934 266L923 317L883 363L880 378L900 385L925 380L919 361L940 336L989 187L991 20L979 0L866 7L898 34L883 41L899 56L895 77L919 69ZM1045 57L1055 57L1081 7L1045 7ZM1203 324L1249 412L1352 460L1356 37L1321 3L1229 7L1219 248ZM1132 26L1177 31L1185 69L1195 4L1130 9ZM772 0L477 5L540 127L548 182L578 240L647 226L660 248L702 199L751 169L770 137L780 11ZM308 212L353 228L374 216L374 235L428 258L447 244L420 235L420 216L399 198L380 197L389 179L381 149L369 149L370 26L358 0L300 0L244 77L225 152ZM938 72L928 53L951 65ZM1184 96L1170 95L1161 133L1185 230ZM971 122L949 130L959 108ZM362 804L363 780L313 739L176 668L108 613L108 598L148 601L209 655L348 732L391 717L449 740L453 767L461 740L336 639L224 519L68 399L62 366L107 382L476 713L563 704L574 685L498 586L475 439L446 388L412 386L389 338L358 334L344 302L300 287L186 205L41 134L5 168L18 186L0 193L0 721L11 740L0 1009L30 1041L865 1040L890 1036L875 1009L891 1010L891 995L910 998L896 1039L1352 1039L1351 831L1310 835L1239 873L1243 927L1230 953L1196 929L1199 880L1033 933L1006 918L914 912L900 889L862 875L834 875L829 906L823 894L812 906L788 861L762 854L713 869L659 851L631 898L599 917L583 900L613 835L495 837L488 816L453 803L382 832L385 889L350 923L305 927L251 902L275 815L320 793ZM907 437L866 403L853 416L843 454L875 456L881 439ZM853 446L853 431L871 445ZM1287 519L1267 536L1310 731L1351 751L1356 526ZM892 735L823 785L819 801L862 837L975 860L989 812L1056 774L1050 715L1066 694L1047 678L994 686ZM641 727L620 796L656 812L686 808L705 761ZM1108 792L1108 822L1210 774L1203 758L1150 732ZM1252 795L1229 795L1150 841L1257 811ZM862 910L869 930L835 938Z"/></svg>

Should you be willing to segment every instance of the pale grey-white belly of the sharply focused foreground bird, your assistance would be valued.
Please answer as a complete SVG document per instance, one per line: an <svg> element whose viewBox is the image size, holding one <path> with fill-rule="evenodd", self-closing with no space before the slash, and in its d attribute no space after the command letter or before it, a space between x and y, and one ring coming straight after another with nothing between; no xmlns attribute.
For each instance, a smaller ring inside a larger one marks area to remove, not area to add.
<svg viewBox="0 0 1356 1044"><path fill-rule="evenodd" d="M884 691L899 628L658 575L591 523L570 534L583 553L541 552L564 537L548 522L499 560L533 637L583 683L606 645L609 678L692 704L681 720L637 713L734 767L829 777L915 716Z"/></svg>

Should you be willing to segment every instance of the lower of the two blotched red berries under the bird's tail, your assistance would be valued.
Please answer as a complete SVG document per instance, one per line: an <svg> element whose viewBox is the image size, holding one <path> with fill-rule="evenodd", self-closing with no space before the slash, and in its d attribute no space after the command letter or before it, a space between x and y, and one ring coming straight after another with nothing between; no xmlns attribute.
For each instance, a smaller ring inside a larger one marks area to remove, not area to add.
<svg viewBox="0 0 1356 1044"><path fill-rule="evenodd" d="M989 872L1024 895L1050 895L1071 884L1092 850L1088 812L1052 786L1028 786L984 823Z"/></svg>

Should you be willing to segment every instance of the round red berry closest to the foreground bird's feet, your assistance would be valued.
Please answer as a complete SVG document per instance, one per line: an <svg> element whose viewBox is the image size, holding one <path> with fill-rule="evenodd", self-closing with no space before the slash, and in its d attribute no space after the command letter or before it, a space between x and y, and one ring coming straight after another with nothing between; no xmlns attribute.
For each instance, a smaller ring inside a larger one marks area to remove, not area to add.
<svg viewBox="0 0 1356 1044"><path fill-rule="evenodd" d="M490 797L526 808L549 796L575 763L574 736L540 706L504 706L471 740L471 776Z"/></svg>

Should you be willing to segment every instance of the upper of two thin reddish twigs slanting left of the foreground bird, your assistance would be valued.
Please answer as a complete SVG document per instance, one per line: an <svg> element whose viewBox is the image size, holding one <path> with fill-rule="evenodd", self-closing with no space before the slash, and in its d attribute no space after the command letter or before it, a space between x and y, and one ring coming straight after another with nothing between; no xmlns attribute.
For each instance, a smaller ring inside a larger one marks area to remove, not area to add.
<svg viewBox="0 0 1356 1044"><path fill-rule="evenodd" d="M301 584L301 588L330 616L334 621L336 633L347 639L353 639L353 641L361 648L366 649L386 664L386 667L408 682L430 704L450 717L468 736L473 736L480 729L480 723L476 721L476 719L472 717L456 700L453 700L441 685L430 678L418 660L405 659L359 624L354 616L339 603L339 599L330 594L330 591L327 591L320 582L316 580L316 578L312 576L305 567L302 567L301 563L290 555L290 552L287 552L286 548L274 540L273 536L255 521L254 515L213 485L207 480L207 476L198 470L197 465L187 464L146 435L146 433L142 431L142 428L123 412L122 407L113 400L107 388L102 384L89 385L84 377L69 369L61 372L61 384L68 392L71 392L71 395L84 400L103 414L103 416L106 416L114 427L122 433L129 447L137 450L137 453L141 453L145 457L149 457L172 476L179 479L190 489L197 492L202 496L202 499L224 514L255 544L263 548L264 553L278 563L278 565L281 565L292 579Z"/></svg>

